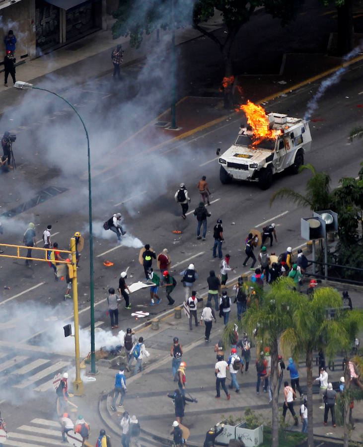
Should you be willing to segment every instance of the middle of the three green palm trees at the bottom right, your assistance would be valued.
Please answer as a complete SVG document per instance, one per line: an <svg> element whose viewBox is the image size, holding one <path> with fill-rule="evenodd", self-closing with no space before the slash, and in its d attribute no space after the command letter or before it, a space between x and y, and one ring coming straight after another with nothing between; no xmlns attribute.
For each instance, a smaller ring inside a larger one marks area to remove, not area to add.
<svg viewBox="0 0 363 447"><path fill-rule="evenodd" d="M306 356L308 446L314 446L313 408L312 408L312 356L313 351L325 349L333 352L333 344L339 346L339 333L331 338L335 321L327 319L327 309L339 309L342 298L330 287L315 290L311 296L299 294L297 305L291 315L290 327L281 334L281 346L284 353L292 357Z"/></svg>

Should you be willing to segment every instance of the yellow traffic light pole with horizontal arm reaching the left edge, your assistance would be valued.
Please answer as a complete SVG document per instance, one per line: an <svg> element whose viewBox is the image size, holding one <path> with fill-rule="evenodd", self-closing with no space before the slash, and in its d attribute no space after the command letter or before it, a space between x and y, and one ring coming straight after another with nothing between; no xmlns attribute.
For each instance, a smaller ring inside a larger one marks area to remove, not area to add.
<svg viewBox="0 0 363 447"><path fill-rule="evenodd" d="M73 269L73 314L74 314L74 353L75 353L75 380L73 381L74 394L82 395L83 394L83 381L80 378L80 360L79 360L79 322L78 322L78 285L77 285L77 260L75 254L75 238L71 238L71 251L69 250L58 250L54 248L40 248L40 247L32 247L32 250L38 251L38 253L44 252L44 258L28 258L26 256L20 256L20 249L24 248L26 250L29 247L25 245L9 245L9 244L0 244L0 247L7 248L16 248L16 255L7 255L0 254L2 258L16 258L16 259L25 259L32 261L40 261L40 262L51 262L48 259L47 252L48 251L58 251L60 253L67 253L69 259L71 260L72 269ZM56 261L56 264L69 264L69 261ZM1 302L0 302L1 305Z"/></svg>

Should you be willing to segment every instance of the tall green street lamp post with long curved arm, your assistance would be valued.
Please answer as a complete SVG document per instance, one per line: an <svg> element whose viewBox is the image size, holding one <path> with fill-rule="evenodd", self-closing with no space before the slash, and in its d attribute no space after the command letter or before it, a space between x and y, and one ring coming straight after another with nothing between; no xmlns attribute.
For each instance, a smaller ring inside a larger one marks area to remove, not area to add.
<svg viewBox="0 0 363 447"><path fill-rule="evenodd" d="M79 115L74 106L67 101L66 98L55 93L54 91L47 90L46 88L34 87L33 84L23 81L16 81L14 84L15 88L22 89L32 89L32 90L43 90L48 93L52 93L53 95L58 96L58 98L63 99L63 101L67 102L67 104L72 107L74 112L77 114L80 119L84 132L87 137L87 156L88 156L88 215L89 215L89 284L90 284L90 302L91 302L91 371L90 373L96 374L96 356L95 356L95 345L94 345L94 280L93 280L93 234L92 234L92 192L91 192L91 156L89 150L89 137L87 128L82 120L82 117ZM77 304L77 309L74 309L74 313L78 312L78 303L74 302L74 305ZM79 347L78 347L79 349Z"/></svg>

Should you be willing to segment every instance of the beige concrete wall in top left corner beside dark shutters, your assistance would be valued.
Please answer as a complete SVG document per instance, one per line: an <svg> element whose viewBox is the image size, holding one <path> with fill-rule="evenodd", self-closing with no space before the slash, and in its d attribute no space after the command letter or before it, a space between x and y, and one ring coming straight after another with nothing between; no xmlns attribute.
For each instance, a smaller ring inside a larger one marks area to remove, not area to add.
<svg viewBox="0 0 363 447"><path fill-rule="evenodd" d="M0 53L0 59L5 54L4 36L9 29L14 31L17 39L15 56L17 62L20 56L28 54L30 58L35 56L35 31L33 23L35 20L35 0L22 0L6 8L2 8L0 40L3 52ZM32 23L33 21L33 23Z"/></svg>

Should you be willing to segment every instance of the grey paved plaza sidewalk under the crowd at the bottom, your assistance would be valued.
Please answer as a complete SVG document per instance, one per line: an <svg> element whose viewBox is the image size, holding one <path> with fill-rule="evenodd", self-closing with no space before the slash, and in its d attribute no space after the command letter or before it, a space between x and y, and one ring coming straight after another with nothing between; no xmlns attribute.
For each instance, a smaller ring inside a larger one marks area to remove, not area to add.
<svg viewBox="0 0 363 447"><path fill-rule="evenodd" d="M229 284L231 288L231 284ZM339 292L344 289L344 286L339 287ZM354 306L362 308L362 298L359 292L350 292L353 298ZM235 305L232 305L231 319L236 317ZM201 309L198 310L200 316ZM216 353L214 346L220 338L223 329L222 320L217 316L217 323L213 323L211 342L207 343L204 340L204 325L195 327L189 330L189 322L182 313L181 319L175 319L173 312L169 316L163 317L159 322L159 330L154 331L150 326L138 331L137 336L143 336L145 340L145 347L150 353L150 357L143 361L145 371L132 376L131 373L127 375L128 391L122 408L117 408L118 412L113 412L110 409L111 397L108 392L112 391L114 384L114 376L118 371L115 369L104 369L97 367L99 374L96 376L96 381L85 383L85 396L81 398L74 398L75 402L84 414L87 414L87 402L92 399L92 396L99 395L99 413L102 421L106 424L107 433L115 438L119 435L121 430L119 428L119 417L123 411L128 411L130 416L135 414L139 419L141 427L147 434L153 437L156 445L167 445L168 440L171 440L169 435L171 431L171 424L175 419L174 407L171 399L166 396L166 393L172 393L177 388L176 382L173 382L171 371L171 357L170 347L172 345L173 337L178 337L183 346L184 354L183 361L186 362L186 391L187 396L193 396L198 400L198 403L188 403L185 409L185 417L183 424L190 429L191 436L189 444L192 446L202 446L206 432L211 425L217 423L221 419L232 415L234 418L241 417L243 420L244 409L249 407L261 414L265 420L271 420L271 404L269 404L269 397L267 393L262 392L256 394L256 348L251 349L251 363L248 373L238 373L237 379L241 387L239 394L234 390L231 391L231 397L228 401L224 392L221 390L221 398L216 399L215 389L215 375L214 365L216 362ZM225 353L225 358L228 357L228 352ZM287 362L287 359L285 359ZM329 381L339 381L342 375L341 361L339 357L335 360L335 370L330 371ZM134 362L135 364L135 362ZM299 362L300 385L303 391L306 391L306 367L302 359ZM318 367L313 368L313 377L318 375ZM226 384L230 383L230 375L227 373ZM289 373L285 372L284 379L289 380ZM315 394L313 394L314 406L314 435L321 435L335 440L341 440L343 436L343 427L333 428L330 425L323 425L323 409L321 407L321 398L318 394L318 386L315 387ZM283 401L283 393L281 392L279 398L279 408L281 410ZM299 412L300 400L295 403L295 411ZM84 408L82 408L84 406ZM88 410L89 411L89 410ZM356 429L352 432L352 439L360 441L360 434L363 433L363 420L361 414L363 411L363 403L356 402L354 408L354 418ZM290 430L301 431L301 423L298 427L294 427L293 420L290 414L287 415L287 422L290 424ZM330 419L329 419L330 424ZM101 428L101 427L99 427ZM142 442L144 446L149 446L147 442ZM152 445L152 444L151 444Z"/></svg>

